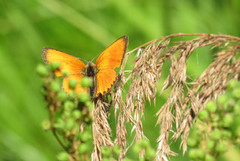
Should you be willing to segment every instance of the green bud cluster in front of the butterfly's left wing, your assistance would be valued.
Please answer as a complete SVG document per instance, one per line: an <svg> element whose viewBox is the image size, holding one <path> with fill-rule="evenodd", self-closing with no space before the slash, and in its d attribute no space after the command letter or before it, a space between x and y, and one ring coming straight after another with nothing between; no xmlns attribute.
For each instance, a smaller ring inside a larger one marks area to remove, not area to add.
<svg viewBox="0 0 240 161"><path fill-rule="evenodd" d="M92 107L88 103L88 93L77 94L74 89L76 80L69 81L72 89L69 96L61 89L59 78L54 74L60 64L55 62L47 69L49 77L42 77L44 98L48 103L49 120L44 120L42 126L50 130L64 149L57 155L59 161L68 159L89 160L92 151ZM39 67L37 67L37 70ZM38 72L42 76L41 72ZM79 102L80 101L80 102ZM81 127L81 129L80 129Z"/></svg>

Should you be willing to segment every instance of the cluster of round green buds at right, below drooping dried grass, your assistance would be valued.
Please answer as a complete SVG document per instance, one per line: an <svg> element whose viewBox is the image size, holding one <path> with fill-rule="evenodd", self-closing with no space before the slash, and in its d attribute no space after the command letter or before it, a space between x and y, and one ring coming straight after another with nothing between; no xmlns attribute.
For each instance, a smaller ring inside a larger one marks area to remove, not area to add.
<svg viewBox="0 0 240 161"><path fill-rule="evenodd" d="M240 106L239 97L234 91L240 90L240 82L231 80L226 92L210 101L199 112L199 119L188 138L191 147L189 158L198 161L215 161L229 147L239 148ZM209 119L211 118L211 119Z"/></svg>

